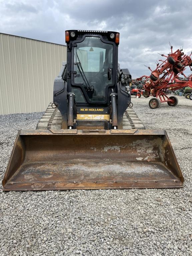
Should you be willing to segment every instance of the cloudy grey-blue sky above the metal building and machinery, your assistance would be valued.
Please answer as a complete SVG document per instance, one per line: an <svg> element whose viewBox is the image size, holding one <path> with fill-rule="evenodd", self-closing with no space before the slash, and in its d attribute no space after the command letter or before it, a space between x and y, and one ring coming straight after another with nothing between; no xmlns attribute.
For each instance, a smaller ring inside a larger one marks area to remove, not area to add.
<svg viewBox="0 0 192 256"><path fill-rule="evenodd" d="M191 10L192 0L0 0L0 32L65 44L67 29L118 31L120 65L136 78L169 41L190 54Z"/></svg>

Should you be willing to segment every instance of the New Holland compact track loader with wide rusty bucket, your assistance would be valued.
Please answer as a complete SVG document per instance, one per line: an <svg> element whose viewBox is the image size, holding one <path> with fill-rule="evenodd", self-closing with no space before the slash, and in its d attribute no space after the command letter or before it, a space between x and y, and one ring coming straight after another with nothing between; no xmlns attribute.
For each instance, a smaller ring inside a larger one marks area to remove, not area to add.
<svg viewBox="0 0 192 256"><path fill-rule="evenodd" d="M20 130L4 190L182 187L164 130L131 108L131 75L118 65L119 33L66 31L67 62L36 130Z"/></svg>

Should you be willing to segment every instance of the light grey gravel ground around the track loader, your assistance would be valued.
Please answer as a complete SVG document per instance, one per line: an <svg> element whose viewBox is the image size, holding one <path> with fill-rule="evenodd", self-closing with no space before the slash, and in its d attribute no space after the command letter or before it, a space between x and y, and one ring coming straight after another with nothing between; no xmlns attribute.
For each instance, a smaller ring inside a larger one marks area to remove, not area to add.
<svg viewBox="0 0 192 256"><path fill-rule="evenodd" d="M185 177L180 189L2 192L0 256L192 255L192 101L156 110L132 102L146 129L166 129ZM42 113L0 116L0 178L19 129Z"/></svg>

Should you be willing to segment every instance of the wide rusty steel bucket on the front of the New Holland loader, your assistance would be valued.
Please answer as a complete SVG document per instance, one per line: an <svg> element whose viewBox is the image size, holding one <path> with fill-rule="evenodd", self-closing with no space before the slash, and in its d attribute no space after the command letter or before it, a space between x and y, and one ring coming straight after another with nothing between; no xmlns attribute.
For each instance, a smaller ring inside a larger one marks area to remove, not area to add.
<svg viewBox="0 0 192 256"><path fill-rule="evenodd" d="M182 187L164 130L21 130L4 190Z"/></svg>

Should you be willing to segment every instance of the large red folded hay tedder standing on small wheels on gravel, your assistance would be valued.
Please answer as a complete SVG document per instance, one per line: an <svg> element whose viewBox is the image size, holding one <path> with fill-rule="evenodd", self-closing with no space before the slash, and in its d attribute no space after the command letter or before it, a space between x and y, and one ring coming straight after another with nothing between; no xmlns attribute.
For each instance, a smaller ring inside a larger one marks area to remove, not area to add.
<svg viewBox="0 0 192 256"><path fill-rule="evenodd" d="M148 67L151 71L150 76L144 75L137 78L138 81L141 81L143 78L146 79L143 96L145 98L149 96L154 97L149 101L150 108L159 108L161 102L167 102L169 106L176 106L178 104L177 97L168 96L168 91L175 91L186 86L192 88L192 77L187 78L184 74L187 66L192 71L191 54L189 56L184 54L182 49L173 52L173 47L171 46L171 53L168 55L161 54L166 59L159 60L160 64L157 63L155 70L151 70ZM182 75L185 79L179 75Z"/></svg>

